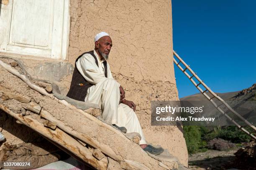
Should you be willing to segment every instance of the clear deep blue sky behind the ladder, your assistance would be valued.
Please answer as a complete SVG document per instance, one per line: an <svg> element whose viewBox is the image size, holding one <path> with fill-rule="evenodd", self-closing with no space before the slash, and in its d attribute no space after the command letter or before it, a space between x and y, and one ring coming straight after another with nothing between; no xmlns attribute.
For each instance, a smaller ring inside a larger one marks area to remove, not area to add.
<svg viewBox="0 0 256 170"><path fill-rule="evenodd" d="M256 0L172 0L174 50L215 92L256 83ZM198 93L174 66L179 97Z"/></svg>

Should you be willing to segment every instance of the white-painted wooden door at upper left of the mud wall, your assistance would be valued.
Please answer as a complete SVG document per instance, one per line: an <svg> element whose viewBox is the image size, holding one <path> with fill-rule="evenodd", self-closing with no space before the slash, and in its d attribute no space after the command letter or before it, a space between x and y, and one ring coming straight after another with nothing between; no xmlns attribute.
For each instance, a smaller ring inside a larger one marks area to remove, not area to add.
<svg viewBox="0 0 256 170"><path fill-rule="evenodd" d="M9 0L8 4L2 3L0 51L66 59L68 10L69 0Z"/></svg>

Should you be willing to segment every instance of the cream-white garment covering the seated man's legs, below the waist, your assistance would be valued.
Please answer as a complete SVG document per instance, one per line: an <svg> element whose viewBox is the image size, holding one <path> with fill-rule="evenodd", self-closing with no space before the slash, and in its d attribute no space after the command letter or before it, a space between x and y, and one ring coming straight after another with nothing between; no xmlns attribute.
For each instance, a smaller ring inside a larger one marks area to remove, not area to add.
<svg viewBox="0 0 256 170"><path fill-rule="evenodd" d="M119 127L125 127L127 133L139 133L141 135L140 145L146 144L141 124L135 112L127 105L119 103L120 89L117 81L106 79L91 86L84 100L101 107L102 118L107 124L116 124Z"/></svg>

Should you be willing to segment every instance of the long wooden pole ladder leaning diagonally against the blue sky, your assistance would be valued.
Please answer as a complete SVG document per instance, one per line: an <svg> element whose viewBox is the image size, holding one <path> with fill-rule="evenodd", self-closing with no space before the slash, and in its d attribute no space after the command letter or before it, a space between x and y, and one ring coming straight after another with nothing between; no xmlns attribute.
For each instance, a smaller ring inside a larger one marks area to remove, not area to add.
<svg viewBox="0 0 256 170"><path fill-rule="evenodd" d="M221 105L224 105L226 108L228 108L228 110L230 110L230 112L232 112L233 114L235 114L237 117L239 117L243 122L245 122L248 126L250 126L252 129L254 129L254 131L256 132L256 127L253 126L253 124L251 124L250 122L248 122L244 117L242 117L240 114L238 114L234 109L232 109L220 96L218 96L217 94L215 94L205 83L204 81L202 81L198 76L197 74L192 70L190 69L189 65L187 65L183 60L182 58L179 57L179 55L173 51L174 53L174 56L177 57L178 61L176 61L175 58L174 59L174 63L179 67L179 69L189 78L189 80L196 86L196 88L214 105L214 107L216 109L218 109L218 111L220 113L222 113L223 115L225 115L225 117L227 117L231 122L233 122L234 124L236 124L236 126L241 129L243 132L245 132L246 134L248 134L251 138L253 138L254 140L256 140L256 137L248 132L246 129L244 129L242 126L240 126L234 119L232 119L230 116L228 116L228 114L226 114L221 108L220 106ZM182 63L185 68L183 69L182 66L180 66L180 63ZM186 71L189 71L192 76L190 76ZM199 82L198 84L195 82L195 80L193 79L197 79L197 81ZM205 90L201 89L199 85L202 85L204 86ZM212 94L212 97L208 96L205 92L206 91L209 91L210 94ZM221 102L221 104L218 106L215 101L213 101L212 99L213 98L216 98L218 101Z"/></svg>

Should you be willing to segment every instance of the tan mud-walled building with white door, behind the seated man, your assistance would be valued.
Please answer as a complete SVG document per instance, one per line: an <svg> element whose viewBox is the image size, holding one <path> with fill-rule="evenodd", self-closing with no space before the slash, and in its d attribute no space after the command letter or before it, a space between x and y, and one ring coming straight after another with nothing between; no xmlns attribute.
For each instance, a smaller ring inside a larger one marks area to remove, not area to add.
<svg viewBox="0 0 256 170"><path fill-rule="evenodd" d="M1 0L0 5L0 57L16 58L32 79L57 84L62 95L76 58L94 49L97 33L109 33L110 69L126 99L137 104L147 142L188 165L182 128L151 126L150 101L179 100L170 0ZM10 144L26 142L0 125Z"/></svg>

